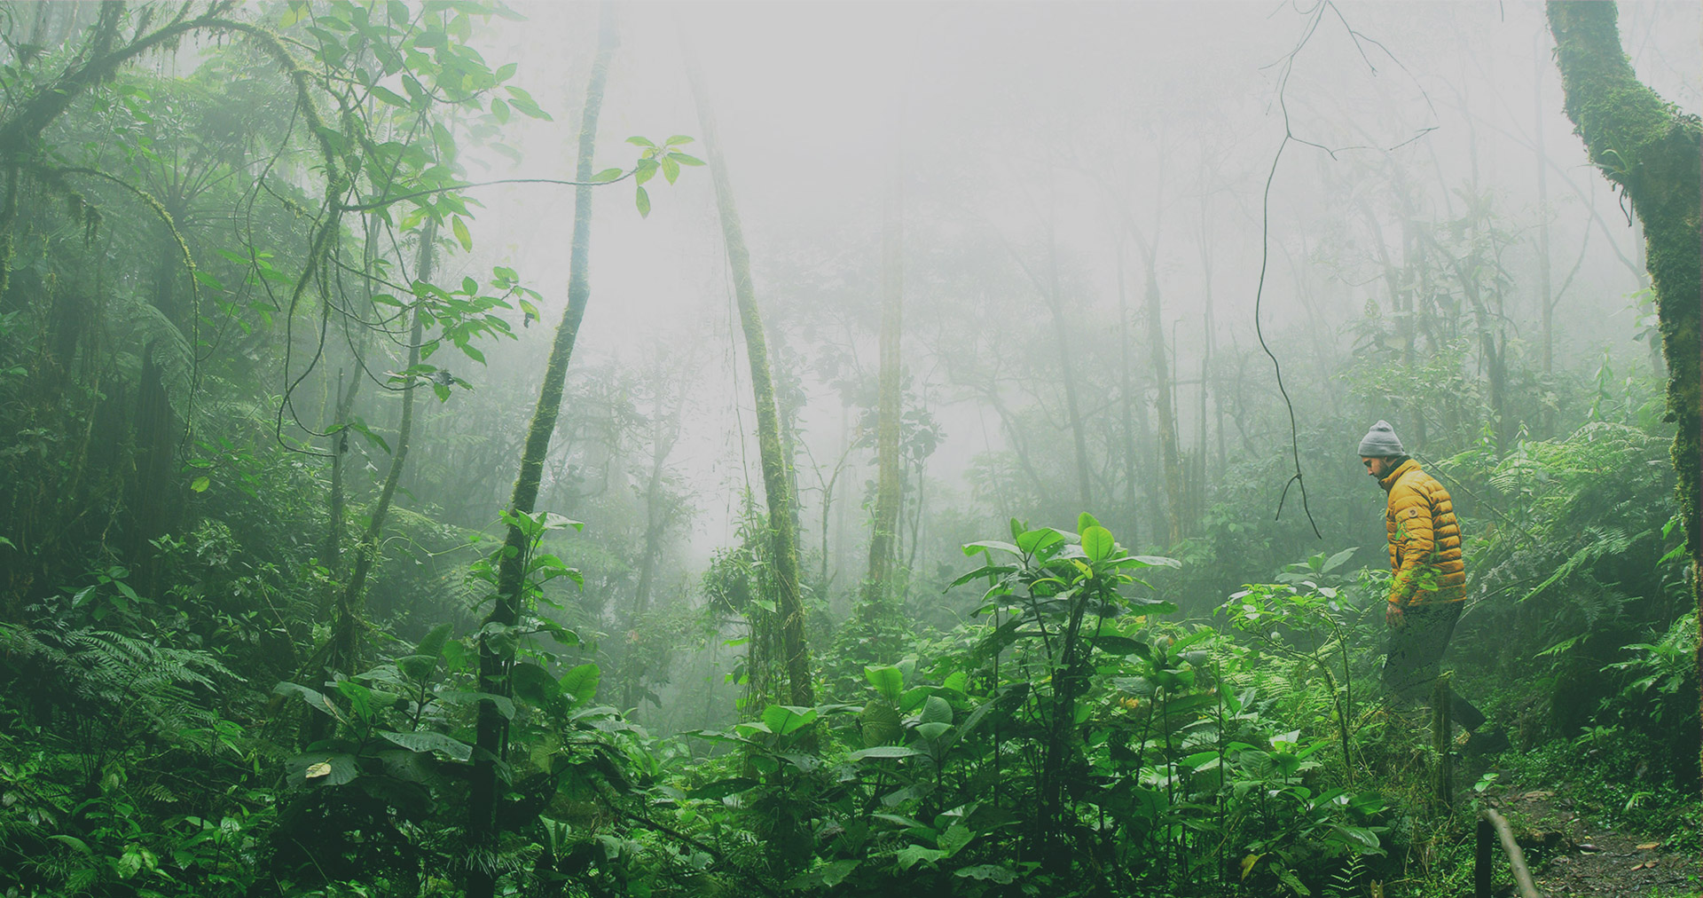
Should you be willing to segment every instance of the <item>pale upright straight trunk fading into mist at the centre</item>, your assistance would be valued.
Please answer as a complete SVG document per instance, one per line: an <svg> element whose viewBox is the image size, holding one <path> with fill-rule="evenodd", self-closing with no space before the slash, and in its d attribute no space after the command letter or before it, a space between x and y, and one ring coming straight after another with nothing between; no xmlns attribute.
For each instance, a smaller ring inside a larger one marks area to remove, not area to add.
<svg viewBox="0 0 1703 898"><path fill-rule="evenodd" d="M904 475L899 470L899 414L901 414L901 361L899 334L904 314L903 271L903 167L894 162L892 187L887 196L887 215L880 233L880 397L875 411L875 527L869 540L869 581L863 591L863 624L877 624L892 612L892 562L896 533L899 530L899 492Z"/></svg>

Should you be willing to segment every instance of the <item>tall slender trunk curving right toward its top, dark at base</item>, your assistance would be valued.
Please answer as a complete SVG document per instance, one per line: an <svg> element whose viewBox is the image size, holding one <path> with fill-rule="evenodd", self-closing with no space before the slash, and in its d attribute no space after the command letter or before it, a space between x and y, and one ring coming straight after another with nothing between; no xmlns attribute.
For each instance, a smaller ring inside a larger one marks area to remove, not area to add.
<svg viewBox="0 0 1703 898"><path fill-rule="evenodd" d="M574 237L569 249L567 312L555 331L550 346L550 363L545 366L543 385L538 389L538 406L526 429L526 446L521 450L521 470L514 477L514 494L509 509L531 515L538 503L538 481L543 477L543 460L550 452L550 436L562 409L562 387L567 380L567 361L574 354L579 322L586 317L586 300L591 296L591 279L586 264L591 257L591 187L593 152L598 147L598 111L603 107L603 85L610 80L610 56L615 53L615 10L603 7L603 26L598 32L598 55L591 63L591 83L586 87L586 106L579 119L579 158L574 165ZM521 615L525 590L526 532L509 525L502 561L497 564L497 596L485 624L513 627ZM509 670L514 648L492 646L479 639L479 690L489 695L509 694ZM497 847L497 765L507 755L507 728L496 702L479 702L479 726L473 750L473 775L468 787L467 835L473 847L468 864L467 898L490 898L496 893L496 866L490 854Z"/></svg>

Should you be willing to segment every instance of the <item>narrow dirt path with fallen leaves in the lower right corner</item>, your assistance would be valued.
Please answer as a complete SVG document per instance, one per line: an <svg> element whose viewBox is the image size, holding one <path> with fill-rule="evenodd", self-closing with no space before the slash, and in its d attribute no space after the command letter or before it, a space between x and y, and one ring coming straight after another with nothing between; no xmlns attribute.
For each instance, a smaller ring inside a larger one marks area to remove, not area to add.
<svg viewBox="0 0 1703 898"><path fill-rule="evenodd" d="M1509 818L1546 898L1700 898L1703 861L1660 840L1608 830L1575 811L1563 789L1511 787L1490 803ZM1499 864L1497 881L1507 871Z"/></svg>

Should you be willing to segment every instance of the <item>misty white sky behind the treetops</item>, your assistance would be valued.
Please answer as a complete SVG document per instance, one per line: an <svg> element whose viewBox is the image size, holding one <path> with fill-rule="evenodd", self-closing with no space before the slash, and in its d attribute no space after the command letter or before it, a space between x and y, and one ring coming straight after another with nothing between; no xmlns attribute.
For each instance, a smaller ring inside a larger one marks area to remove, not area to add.
<svg viewBox="0 0 1703 898"><path fill-rule="evenodd" d="M530 22L502 27L496 37L514 43L489 48L485 56L492 65L518 61L516 83L555 121L528 123L507 136L525 153L521 165L487 158L496 160L496 176L559 177L572 170L598 7L514 7ZM598 167L628 165L637 155L623 143L630 135L702 133L681 65L681 41L690 41L715 102L765 307L817 302L812 283L794 276L782 285L777 271L821 271L824 283L848 269L877 271L879 198L899 155L911 268L937 233L996 233L1017 252L1039 252L1051 220L1073 305L1109 310L1115 222L1127 211L1158 235L1165 315L1185 322L1177 339L1189 365L1202 341L1199 324L1189 324L1199 322L1206 286L1202 240L1214 257L1219 339L1240 346L1253 339L1260 187L1284 135L1277 80L1308 9L1255 2L628 3L620 10L623 41L603 107ZM1267 334L1277 334L1279 344L1308 332L1308 339L1347 346L1340 327L1378 296L1378 286L1368 285L1374 269L1357 203L1390 204L1378 176L1386 152L1412 172L1429 215L1458 215L1454 206L1465 201L1458 191L1477 184L1511 222L1528 227L1536 220L1533 147L1541 126L1545 152L1580 189L1551 170L1557 283L1584 245L1592 206L1608 225L1592 235L1562 305L1567 320L1596 325L1570 329L1562 358L1577 366L1604 349L1642 351L1630 343L1633 315L1625 300L1637 281L1604 230L1620 254L1637 259L1633 233L1585 165L1562 112L1541 5L1337 9L1342 19L1327 14L1296 55L1284 95L1298 138L1342 150L1335 158L1298 143L1284 150L1270 194ZM1700 7L1621 3L1621 31L1640 77L1698 111ZM472 170L482 174L477 164ZM640 220L630 186L598 194L593 298L576 363L616 356L639 365L657 344L671 346L669 353L697 346L702 389L678 462L714 496L707 504L729 504L725 487L746 477L734 421L749 429L751 414L743 351L731 339L731 286L708 172L686 170L673 187L657 179L651 196L656 208ZM528 187L480 198L487 208L475 228L479 249L463 262L468 269L518 268L545 293L553 324L567 283L571 194ZM1505 259L1522 283L1534 278L1529 244L1522 239ZM1138 288L1139 256L1127 242L1126 254ZM1010 259L989 257L988 266L1010 268ZM1306 285L1304 303L1298 285ZM926 319L918 310L908 315L918 324ZM1519 336L1534 339L1529 308L1514 315ZM521 344L501 349L513 354L494 360L487 377L516 360L542 368L547 336L533 329ZM872 353L872 334L848 339ZM913 371L928 377L933 368L918 343L906 354ZM1340 385L1306 383L1301 402L1332 402L1330 390ZM986 443L974 412L949 406L955 395L949 385L933 395L949 433L932 469L942 475ZM817 395L806 429L817 458L836 457L838 399ZM754 477L754 450L749 457ZM724 515L700 518L697 540L700 547L729 542Z"/></svg>

